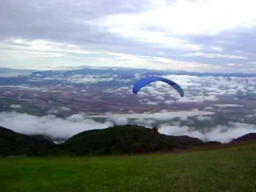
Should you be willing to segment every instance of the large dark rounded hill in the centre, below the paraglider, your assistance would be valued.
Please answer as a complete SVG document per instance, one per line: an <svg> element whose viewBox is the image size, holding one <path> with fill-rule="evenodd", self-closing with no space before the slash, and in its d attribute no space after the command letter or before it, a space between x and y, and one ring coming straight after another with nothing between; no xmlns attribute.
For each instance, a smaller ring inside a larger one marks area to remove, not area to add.
<svg viewBox="0 0 256 192"><path fill-rule="evenodd" d="M205 143L197 138L154 135L145 127L126 125L84 131L59 147L63 153L86 155L151 153L203 145Z"/></svg>

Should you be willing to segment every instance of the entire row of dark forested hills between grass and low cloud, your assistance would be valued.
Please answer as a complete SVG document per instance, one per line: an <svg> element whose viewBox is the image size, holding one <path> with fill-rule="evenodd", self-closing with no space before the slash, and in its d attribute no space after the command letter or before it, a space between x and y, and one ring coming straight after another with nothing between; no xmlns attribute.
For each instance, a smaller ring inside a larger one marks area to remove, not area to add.
<svg viewBox="0 0 256 192"><path fill-rule="evenodd" d="M255 133L244 135L233 142L241 140L256 141ZM154 134L151 129L135 125L84 131L74 135L61 145L55 145L42 135L29 136L0 127L0 156L169 153L212 145L221 145L221 143L216 141L204 142L185 135Z"/></svg>

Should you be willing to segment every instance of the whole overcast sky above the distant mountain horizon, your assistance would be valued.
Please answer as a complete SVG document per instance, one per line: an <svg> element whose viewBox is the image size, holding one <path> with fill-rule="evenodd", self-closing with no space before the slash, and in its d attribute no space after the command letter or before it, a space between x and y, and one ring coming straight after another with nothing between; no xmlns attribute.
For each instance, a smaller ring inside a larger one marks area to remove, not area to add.
<svg viewBox="0 0 256 192"><path fill-rule="evenodd" d="M256 72L256 1L1 0L0 67Z"/></svg>

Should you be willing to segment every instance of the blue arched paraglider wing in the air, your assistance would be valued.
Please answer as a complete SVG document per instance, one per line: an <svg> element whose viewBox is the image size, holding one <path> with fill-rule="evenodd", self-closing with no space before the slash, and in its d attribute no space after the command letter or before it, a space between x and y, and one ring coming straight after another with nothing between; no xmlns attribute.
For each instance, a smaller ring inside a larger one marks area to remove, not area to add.
<svg viewBox="0 0 256 192"><path fill-rule="evenodd" d="M165 83L171 85L173 87L173 89L175 89L180 94L181 97L184 96L184 91L182 90L180 85L171 81L170 79L163 78L163 77L155 77L155 76L145 77L145 78L140 79L138 82L136 82L133 85L132 91L133 91L133 93L137 94L143 86L145 86L151 82L155 82L155 81L162 81L162 82L165 82Z"/></svg>

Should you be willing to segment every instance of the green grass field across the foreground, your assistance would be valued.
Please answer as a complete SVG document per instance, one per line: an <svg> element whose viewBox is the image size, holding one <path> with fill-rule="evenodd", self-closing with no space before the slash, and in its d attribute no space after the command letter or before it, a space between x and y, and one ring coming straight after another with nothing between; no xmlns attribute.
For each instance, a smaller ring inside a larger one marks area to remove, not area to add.
<svg viewBox="0 0 256 192"><path fill-rule="evenodd" d="M0 158L0 191L256 191L255 152Z"/></svg>

